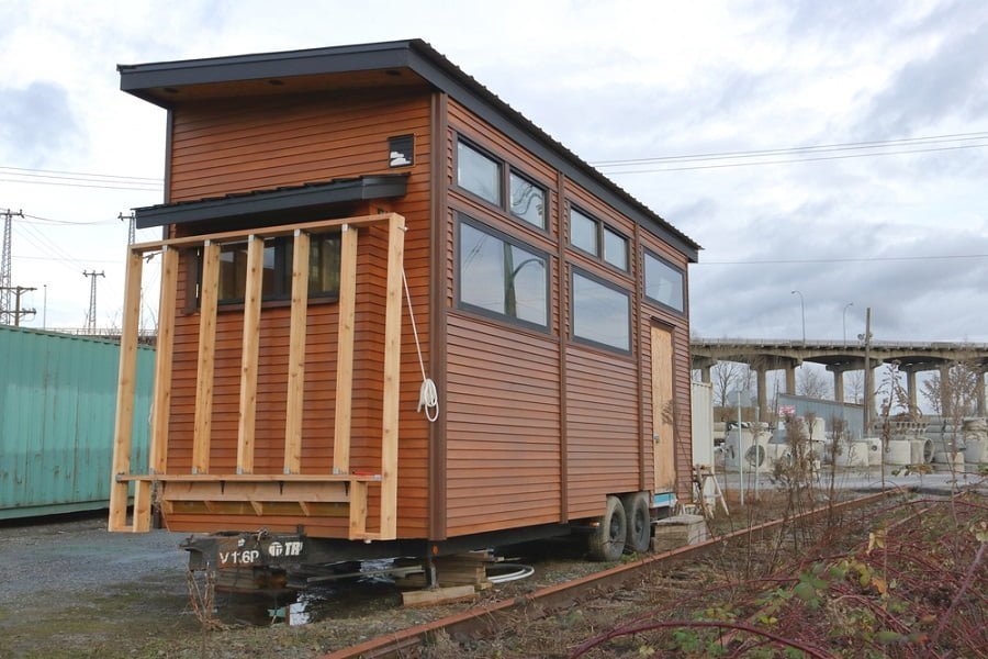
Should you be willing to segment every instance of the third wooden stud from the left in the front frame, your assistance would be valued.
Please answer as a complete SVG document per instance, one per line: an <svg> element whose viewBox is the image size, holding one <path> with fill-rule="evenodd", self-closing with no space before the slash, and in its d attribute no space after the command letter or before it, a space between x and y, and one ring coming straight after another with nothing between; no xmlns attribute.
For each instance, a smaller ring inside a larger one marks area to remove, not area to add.
<svg viewBox="0 0 988 659"><path fill-rule="evenodd" d="M199 293L199 370L195 377L195 426L192 435L192 473L210 471L210 435L213 425L213 362L216 353L216 303L220 294L220 245L202 247L202 282Z"/></svg>

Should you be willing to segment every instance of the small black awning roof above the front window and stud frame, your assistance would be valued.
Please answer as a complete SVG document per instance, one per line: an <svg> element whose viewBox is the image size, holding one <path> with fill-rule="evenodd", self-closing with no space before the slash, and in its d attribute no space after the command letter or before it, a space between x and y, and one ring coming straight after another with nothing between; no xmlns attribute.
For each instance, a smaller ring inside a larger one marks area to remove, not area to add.
<svg viewBox="0 0 988 659"><path fill-rule="evenodd" d="M137 228L222 220L265 220L277 214L285 222L306 222L325 217L334 204L404 197L407 174L334 179L134 209Z"/></svg>

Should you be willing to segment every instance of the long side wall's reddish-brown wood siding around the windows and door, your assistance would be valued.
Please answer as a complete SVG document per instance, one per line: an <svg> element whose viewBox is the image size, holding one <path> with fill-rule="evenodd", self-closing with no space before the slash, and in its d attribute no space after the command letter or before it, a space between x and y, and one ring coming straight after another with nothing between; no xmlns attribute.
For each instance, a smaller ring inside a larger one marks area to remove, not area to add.
<svg viewBox="0 0 988 659"><path fill-rule="evenodd" d="M639 303L642 246L686 269L684 255L636 227L593 194L449 102L445 176L450 208L445 244L447 310L447 535L565 522L599 515L605 495L653 487L651 345L653 319L673 328L677 490L689 490L689 327L685 316ZM456 186L462 136L543 186L548 231L541 232ZM629 242L622 272L569 246L569 206ZM468 215L550 255L548 332L458 309L457 224ZM640 236L640 238L639 238ZM560 241L562 247L560 247ZM562 263L560 263L562 255ZM626 290L632 300L630 355L570 337L572 268ZM564 373L564 376L563 376Z"/></svg>

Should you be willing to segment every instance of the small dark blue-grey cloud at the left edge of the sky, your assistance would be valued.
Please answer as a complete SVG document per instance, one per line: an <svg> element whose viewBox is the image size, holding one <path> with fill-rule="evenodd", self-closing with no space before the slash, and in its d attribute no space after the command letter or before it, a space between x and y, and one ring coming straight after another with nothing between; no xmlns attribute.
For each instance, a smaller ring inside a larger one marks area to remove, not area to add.
<svg viewBox="0 0 988 659"><path fill-rule="evenodd" d="M85 134L64 87L32 82L0 88L0 152L7 163L42 167L85 144Z"/></svg>

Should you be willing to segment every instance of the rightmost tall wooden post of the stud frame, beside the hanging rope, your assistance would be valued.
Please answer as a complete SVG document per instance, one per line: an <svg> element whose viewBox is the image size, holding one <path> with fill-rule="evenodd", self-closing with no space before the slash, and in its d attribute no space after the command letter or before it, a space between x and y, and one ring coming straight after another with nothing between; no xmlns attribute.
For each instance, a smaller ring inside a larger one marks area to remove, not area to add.
<svg viewBox="0 0 988 659"><path fill-rule="evenodd" d="M402 270L405 220L388 221L388 283L384 299L384 395L381 427L381 539L397 536L398 396L402 368Z"/></svg>

